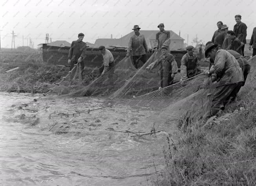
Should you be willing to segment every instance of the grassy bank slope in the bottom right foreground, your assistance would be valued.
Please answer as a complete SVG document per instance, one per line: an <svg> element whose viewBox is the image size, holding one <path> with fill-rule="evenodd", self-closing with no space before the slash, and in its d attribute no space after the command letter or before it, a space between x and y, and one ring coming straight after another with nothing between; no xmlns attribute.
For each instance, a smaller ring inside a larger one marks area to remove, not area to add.
<svg viewBox="0 0 256 186"><path fill-rule="evenodd" d="M204 125L183 123L179 142L167 140L161 185L255 185L256 94L241 89L223 115ZM239 99L240 98L240 99Z"/></svg>

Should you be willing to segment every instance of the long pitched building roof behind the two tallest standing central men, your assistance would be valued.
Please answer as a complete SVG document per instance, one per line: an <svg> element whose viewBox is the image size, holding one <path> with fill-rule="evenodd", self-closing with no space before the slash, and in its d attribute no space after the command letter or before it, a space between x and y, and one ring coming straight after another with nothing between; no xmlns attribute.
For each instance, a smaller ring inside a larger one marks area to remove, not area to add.
<svg viewBox="0 0 256 186"><path fill-rule="evenodd" d="M169 31L170 31L171 40L185 40L181 38L179 35L177 35L176 33L174 33L172 30L169 30ZM153 48L151 46L150 40L155 40L155 35L157 32L159 32L159 30L140 30L139 32L144 35L148 47ZM102 39L102 38L96 39L93 47L98 48L101 45L106 47L110 45L128 46L129 40L133 34L134 32L132 31L129 34L126 34L125 36L119 39Z"/></svg>

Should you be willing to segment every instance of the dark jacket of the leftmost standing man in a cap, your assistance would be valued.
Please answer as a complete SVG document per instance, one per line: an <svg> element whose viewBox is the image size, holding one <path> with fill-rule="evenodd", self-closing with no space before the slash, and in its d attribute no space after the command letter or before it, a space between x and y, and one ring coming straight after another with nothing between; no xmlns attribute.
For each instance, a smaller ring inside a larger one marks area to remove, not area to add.
<svg viewBox="0 0 256 186"><path fill-rule="evenodd" d="M71 59L71 62L77 62L78 58L81 57L81 61L84 60L86 57L86 43L83 41L72 41L69 53L68 53L68 59Z"/></svg>

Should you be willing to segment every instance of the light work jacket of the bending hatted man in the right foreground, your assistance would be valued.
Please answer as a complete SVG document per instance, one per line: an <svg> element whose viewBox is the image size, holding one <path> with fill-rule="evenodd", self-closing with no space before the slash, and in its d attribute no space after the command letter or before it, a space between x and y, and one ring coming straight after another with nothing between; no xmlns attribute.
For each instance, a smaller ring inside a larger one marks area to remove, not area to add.
<svg viewBox="0 0 256 186"><path fill-rule="evenodd" d="M243 82L243 71L236 58L226 50L218 50L214 60L214 73L220 74L217 86Z"/></svg>

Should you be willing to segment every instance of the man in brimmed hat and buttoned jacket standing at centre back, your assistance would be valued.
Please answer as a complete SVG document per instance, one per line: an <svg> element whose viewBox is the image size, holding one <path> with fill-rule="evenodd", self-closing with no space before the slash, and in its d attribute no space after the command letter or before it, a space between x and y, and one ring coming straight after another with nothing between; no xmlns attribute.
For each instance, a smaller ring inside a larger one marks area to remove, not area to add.
<svg viewBox="0 0 256 186"><path fill-rule="evenodd" d="M146 63L146 61L148 60L146 52L149 53L148 45L146 43L144 35L139 33L140 29L141 28L138 25L134 25L132 29L134 31L134 34L129 40L126 54L126 56L129 57L132 51L133 65L135 66L135 68L138 68L139 60L141 60L144 64Z"/></svg>

